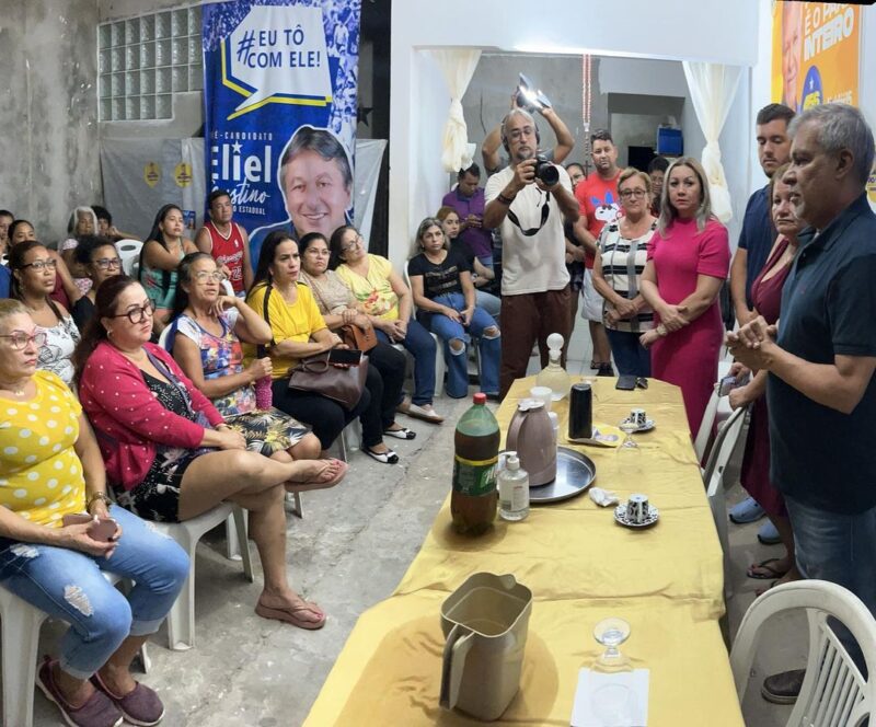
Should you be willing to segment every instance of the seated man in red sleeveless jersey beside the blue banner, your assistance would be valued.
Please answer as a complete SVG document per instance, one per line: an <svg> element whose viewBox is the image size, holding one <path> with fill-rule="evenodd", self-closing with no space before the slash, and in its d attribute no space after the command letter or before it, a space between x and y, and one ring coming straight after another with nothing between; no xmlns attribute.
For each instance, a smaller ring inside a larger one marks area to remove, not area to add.
<svg viewBox="0 0 876 727"><path fill-rule="evenodd" d="M250 264L250 236L231 218L234 208L224 189L214 189L207 198L210 220L195 235L197 249L212 255L217 266L228 276L234 295L243 297L253 284Z"/></svg>

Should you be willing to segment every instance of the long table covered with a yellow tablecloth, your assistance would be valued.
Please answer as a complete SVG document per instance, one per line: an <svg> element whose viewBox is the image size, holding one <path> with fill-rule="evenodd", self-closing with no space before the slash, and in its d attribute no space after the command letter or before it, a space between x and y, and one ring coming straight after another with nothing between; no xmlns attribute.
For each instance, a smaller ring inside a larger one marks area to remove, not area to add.
<svg viewBox="0 0 876 727"><path fill-rule="evenodd" d="M307 725L479 724L438 706L443 637L439 610L472 573L511 573L533 593L521 689L495 724L568 725L577 671L601 648L593 625L625 619L622 650L650 669L649 727L741 727L727 651L723 557L691 446L678 388L647 391L593 384L596 423L616 425L632 407L655 419L636 435L641 452L584 447L596 484L621 499L646 493L660 512L646 530L629 530L586 495L533 507L518 523L497 520L485 535L458 535L450 498L436 516L395 592L361 615L320 692ZM517 401L535 385L515 382L496 413L503 432ZM567 400L553 405L565 441ZM572 446L574 447L574 446ZM448 486L450 482L448 466Z"/></svg>

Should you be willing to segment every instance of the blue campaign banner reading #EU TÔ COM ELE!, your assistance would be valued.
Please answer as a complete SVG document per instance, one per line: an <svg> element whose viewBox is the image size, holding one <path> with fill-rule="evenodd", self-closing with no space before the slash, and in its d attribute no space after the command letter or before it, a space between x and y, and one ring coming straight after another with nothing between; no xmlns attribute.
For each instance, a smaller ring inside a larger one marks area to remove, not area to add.
<svg viewBox="0 0 876 727"><path fill-rule="evenodd" d="M203 8L208 189L250 232L330 236L351 219L360 0Z"/></svg>

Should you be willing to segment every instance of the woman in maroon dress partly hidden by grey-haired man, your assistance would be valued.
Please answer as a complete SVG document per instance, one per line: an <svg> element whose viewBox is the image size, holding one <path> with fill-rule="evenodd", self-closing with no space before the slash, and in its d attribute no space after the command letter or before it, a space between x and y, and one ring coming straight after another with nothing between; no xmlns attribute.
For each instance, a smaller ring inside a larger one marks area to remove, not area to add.
<svg viewBox="0 0 876 727"><path fill-rule="evenodd" d="M797 253L797 235L804 228L804 222L794 214L791 188L782 182L782 175L787 168L788 164L785 164L775 170L769 191L772 219L779 231L779 240L775 241L760 275L751 284L754 310L770 324L779 321L782 287ZM734 364L730 369L730 373L736 376L744 372L741 364ZM748 494L764 509L785 546L784 557L768 558L748 569L749 578L772 580L770 584L772 588L776 584L797 580L800 576L794 562L794 533L791 530L785 500L782 493L770 482L770 422L765 393L766 371L759 371L747 385L730 392L730 406L738 408L752 405L740 481Z"/></svg>

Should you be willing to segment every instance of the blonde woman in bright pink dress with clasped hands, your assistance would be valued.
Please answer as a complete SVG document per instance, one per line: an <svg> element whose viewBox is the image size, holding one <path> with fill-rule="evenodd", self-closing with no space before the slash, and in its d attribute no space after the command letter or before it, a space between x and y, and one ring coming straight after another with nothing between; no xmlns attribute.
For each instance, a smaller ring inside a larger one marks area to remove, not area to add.
<svg viewBox="0 0 876 727"><path fill-rule="evenodd" d="M718 292L730 266L727 229L712 215L705 172L677 159L666 173L658 230L648 243L642 296L659 321L641 341L655 379L681 386L688 424L700 429L718 376L724 336Z"/></svg>

